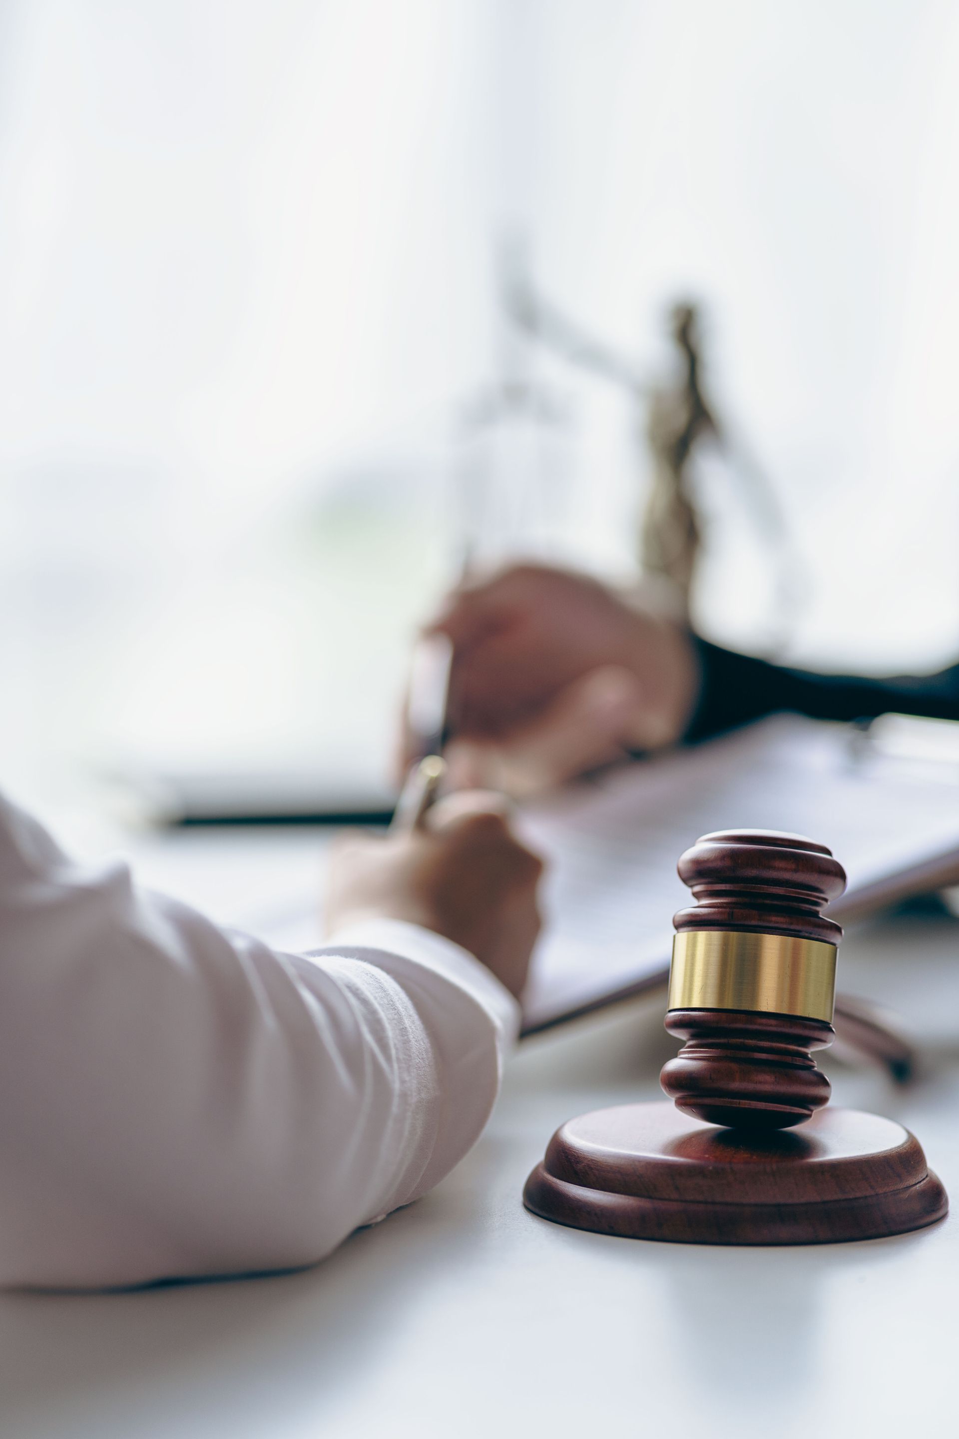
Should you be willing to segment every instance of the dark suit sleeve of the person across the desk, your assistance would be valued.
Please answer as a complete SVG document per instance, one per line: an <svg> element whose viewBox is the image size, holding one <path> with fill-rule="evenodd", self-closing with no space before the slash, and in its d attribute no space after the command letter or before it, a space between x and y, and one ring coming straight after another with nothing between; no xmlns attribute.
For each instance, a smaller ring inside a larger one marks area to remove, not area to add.
<svg viewBox="0 0 959 1439"><path fill-rule="evenodd" d="M694 645L702 681L687 743L782 709L814 720L873 720L887 711L959 720L959 665L936 675L868 679L785 669L697 636Z"/></svg>

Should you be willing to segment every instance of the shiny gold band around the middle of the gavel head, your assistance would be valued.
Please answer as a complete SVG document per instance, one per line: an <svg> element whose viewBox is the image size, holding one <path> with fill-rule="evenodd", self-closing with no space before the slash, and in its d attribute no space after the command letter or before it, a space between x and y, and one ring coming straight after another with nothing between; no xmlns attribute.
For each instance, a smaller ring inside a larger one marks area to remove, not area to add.
<svg viewBox="0 0 959 1439"><path fill-rule="evenodd" d="M670 1009L748 1009L832 1022L835 945L788 934L687 930L673 940Z"/></svg>

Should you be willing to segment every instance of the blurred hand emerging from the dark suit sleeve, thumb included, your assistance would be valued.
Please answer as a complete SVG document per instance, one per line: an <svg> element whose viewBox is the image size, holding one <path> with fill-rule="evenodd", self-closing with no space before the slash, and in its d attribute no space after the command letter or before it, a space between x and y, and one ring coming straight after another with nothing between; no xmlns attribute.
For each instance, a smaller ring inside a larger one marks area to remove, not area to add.
<svg viewBox="0 0 959 1439"><path fill-rule="evenodd" d="M428 632L454 645L453 787L546 790L676 744L693 709L689 635L587 576L515 566L456 590Z"/></svg>

